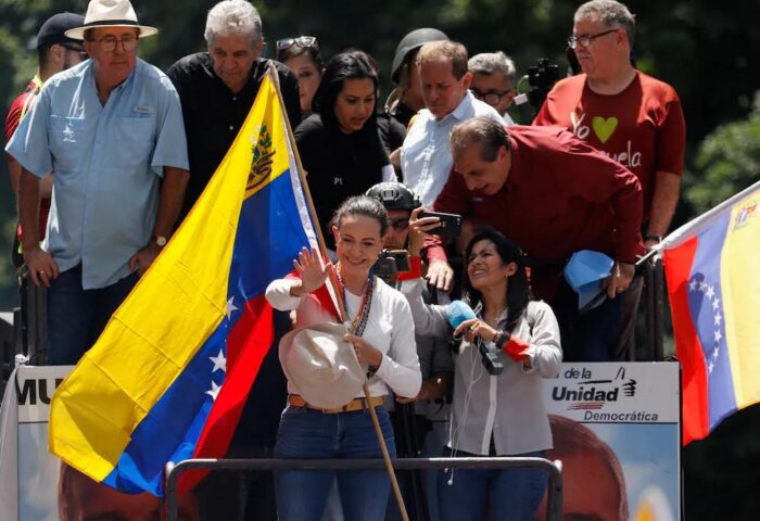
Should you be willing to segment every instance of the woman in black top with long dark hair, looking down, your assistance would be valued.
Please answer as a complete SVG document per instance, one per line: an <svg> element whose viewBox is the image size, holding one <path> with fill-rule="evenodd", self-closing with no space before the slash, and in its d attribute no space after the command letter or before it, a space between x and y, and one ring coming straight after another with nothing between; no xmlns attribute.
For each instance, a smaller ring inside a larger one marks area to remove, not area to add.
<svg viewBox="0 0 760 521"><path fill-rule="evenodd" d="M378 134L375 107L378 75L362 51L340 53L327 63L313 114L295 129L317 218L322 229L349 196L395 173Z"/></svg>

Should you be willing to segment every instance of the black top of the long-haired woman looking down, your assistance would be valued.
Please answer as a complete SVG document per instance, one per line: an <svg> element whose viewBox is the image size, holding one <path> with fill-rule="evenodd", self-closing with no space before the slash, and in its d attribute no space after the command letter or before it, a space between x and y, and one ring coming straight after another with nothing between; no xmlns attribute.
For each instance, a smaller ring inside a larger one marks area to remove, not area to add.
<svg viewBox="0 0 760 521"><path fill-rule="evenodd" d="M313 114L295 129L295 143L326 234L338 206L382 181L382 169L390 165L373 118L362 130L343 134L328 128L319 114Z"/></svg>

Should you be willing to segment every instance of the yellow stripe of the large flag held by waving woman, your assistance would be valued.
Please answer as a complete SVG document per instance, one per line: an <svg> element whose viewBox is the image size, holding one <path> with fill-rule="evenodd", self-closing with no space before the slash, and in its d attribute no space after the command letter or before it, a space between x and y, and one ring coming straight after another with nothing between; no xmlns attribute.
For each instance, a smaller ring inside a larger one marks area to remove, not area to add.
<svg viewBox="0 0 760 521"><path fill-rule="evenodd" d="M131 432L226 314L238 218L255 178L253 143L275 116L279 103L267 74L198 203L53 396L50 450L94 480L111 473ZM286 156L284 166L276 160L255 190L288 168L287 154L276 155Z"/></svg>

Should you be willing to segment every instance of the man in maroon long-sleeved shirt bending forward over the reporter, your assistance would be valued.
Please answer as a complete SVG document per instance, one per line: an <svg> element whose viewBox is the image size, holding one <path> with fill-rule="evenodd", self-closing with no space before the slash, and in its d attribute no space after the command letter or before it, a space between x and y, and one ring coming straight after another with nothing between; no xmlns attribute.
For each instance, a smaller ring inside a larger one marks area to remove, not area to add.
<svg viewBox="0 0 760 521"><path fill-rule="evenodd" d="M457 125L451 138L454 171L433 209L495 227L528 255L533 293L557 315L565 359L609 360L620 327L619 296L644 251L642 189L636 177L571 132L509 127L484 118ZM440 239L426 242L428 278L451 284ZM580 314L578 295L561 277L572 253L594 250L616 259L604 281L607 301Z"/></svg>

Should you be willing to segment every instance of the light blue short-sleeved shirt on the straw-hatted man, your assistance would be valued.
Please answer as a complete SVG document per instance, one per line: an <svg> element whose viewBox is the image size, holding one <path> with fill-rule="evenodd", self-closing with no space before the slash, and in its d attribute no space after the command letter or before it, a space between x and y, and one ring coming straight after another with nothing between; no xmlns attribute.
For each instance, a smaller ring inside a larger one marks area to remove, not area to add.
<svg viewBox="0 0 760 521"><path fill-rule="evenodd" d="M105 105L92 60L56 74L5 150L35 176L55 171L42 247L61 271L81 263L86 290L129 275L153 232L163 168L188 169L179 97L142 60Z"/></svg>

